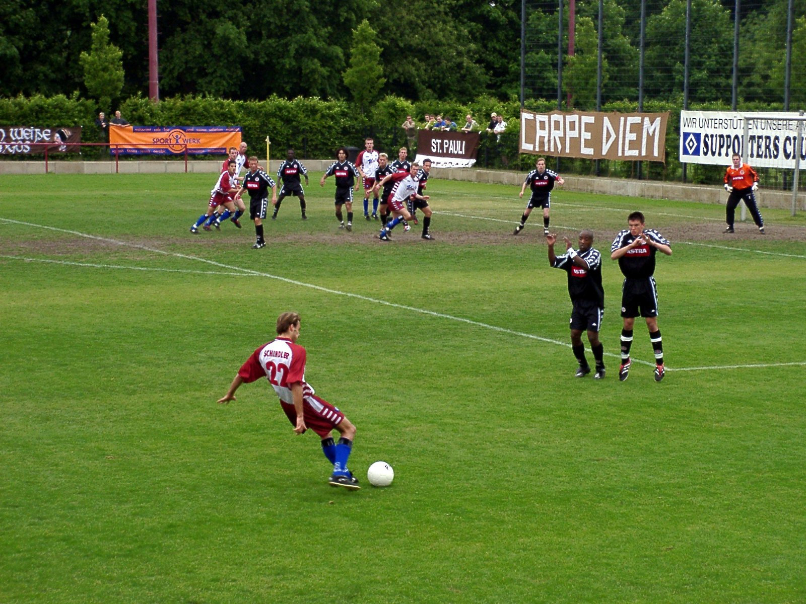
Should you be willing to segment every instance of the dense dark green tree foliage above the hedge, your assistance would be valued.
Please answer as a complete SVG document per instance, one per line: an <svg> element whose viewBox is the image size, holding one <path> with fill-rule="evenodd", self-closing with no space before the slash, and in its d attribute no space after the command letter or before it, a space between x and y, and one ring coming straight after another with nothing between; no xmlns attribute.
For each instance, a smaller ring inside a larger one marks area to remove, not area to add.
<svg viewBox="0 0 806 604"><path fill-rule="evenodd" d="M685 0L650 0L646 21L647 98L682 92ZM556 2L527 0L527 97L556 99ZM590 109L596 67L598 6L576 2L574 56L567 52L564 93ZM637 98L639 0L605 0L602 101ZM692 101L729 98L733 0L693 0ZM806 101L806 0L795 0L791 101ZM0 95L90 93L79 56L92 48L93 23L109 19L110 43L123 53L122 98L147 93L146 2L0 2ZM380 49L376 97L412 101L501 101L520 90L521 2L410 0L174 0L159 2L160 93L234 100L277 97L354 98L344 81L365 45ZM787 0L742 2L740 71L743 100L781 101ZM366 21L369 35L359 31ZM32 34L35 32L35 35ZM349 80L349 78L348 78ZM113 99L113 102L116 99ZM109 108L106 108L109 109Z"/></svg>

